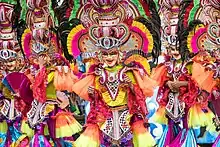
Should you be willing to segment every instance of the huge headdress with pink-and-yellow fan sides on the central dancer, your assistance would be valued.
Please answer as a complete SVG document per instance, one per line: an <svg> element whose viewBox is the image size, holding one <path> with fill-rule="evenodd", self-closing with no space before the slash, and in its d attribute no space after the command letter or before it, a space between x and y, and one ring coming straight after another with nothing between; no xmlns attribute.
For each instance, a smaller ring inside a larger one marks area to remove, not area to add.
<svg viewBox="0 0 220 147"><path fill-rule="evenodd" d="M146 4L151 6L151 12L156 11L154 3ZM83 24L75 26L67 38L68 51L74 58L83 54L86 57L93 56L100 47L111 49L115 46L120 46L120 50L125 52L142 50L144 53L152 53L154 57L159 56L156 50L160 50L160 21L154 20L155 17L159 18L157 13L152 13L148 19L137 18L139 14L135 12L136 9L129 9L136 8L130 1L123 2L123 5L122 1L115 2L114 5L106 4L106 7L97 9L99 5L101 4L92 1L87 4L87 9L83 6L79 10L77 17L82 19ZM128 7L123 7L125 5ZM108 13L109 9L113 13ZM130 11L126 12L126 9ZM132 21L132 18L137 19Z"/></svg>

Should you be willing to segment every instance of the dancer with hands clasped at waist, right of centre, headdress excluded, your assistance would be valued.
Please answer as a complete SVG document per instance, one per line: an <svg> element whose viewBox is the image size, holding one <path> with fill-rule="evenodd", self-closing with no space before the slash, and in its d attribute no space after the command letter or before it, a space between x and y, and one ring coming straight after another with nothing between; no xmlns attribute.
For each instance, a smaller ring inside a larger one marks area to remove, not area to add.
<svg viewBox="0 0 220 147"><path fill-rule="evenodd" d="M214 115L208 108L208 95L200 91L192 78L192 62L182 61L178 49L170 50L171 56L152 74L161 85L157 97L160 107L154 120L168 125L158 145L197 146L192 129L213 127Z"/></svg>

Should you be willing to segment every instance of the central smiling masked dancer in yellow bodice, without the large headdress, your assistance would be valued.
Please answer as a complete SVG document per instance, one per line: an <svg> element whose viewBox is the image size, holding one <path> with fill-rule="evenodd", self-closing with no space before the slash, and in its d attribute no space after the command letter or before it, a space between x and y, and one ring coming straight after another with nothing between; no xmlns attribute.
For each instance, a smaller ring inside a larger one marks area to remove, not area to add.
<svg viewBox="0 0 220 147"><path fill-rule="evenodd" d="M110 37L103 39L112 42ZM100 45L103 47L99 49L98 64L93 65L87 76L72 87L76 94L91 103L86 129L75 145L98 147L102 132L106 146L131 146L131 136L128 137L131 133L134 146L154 146L144 123L147 123L145 99L152 95L155 83L148 78L140 63L132 67L122 64L123 55L118 45L110 44L109 48L104 47L105 44ZM144 82L149 85L144 85ZM148 142L144 141L145 138Z"/></svg>

